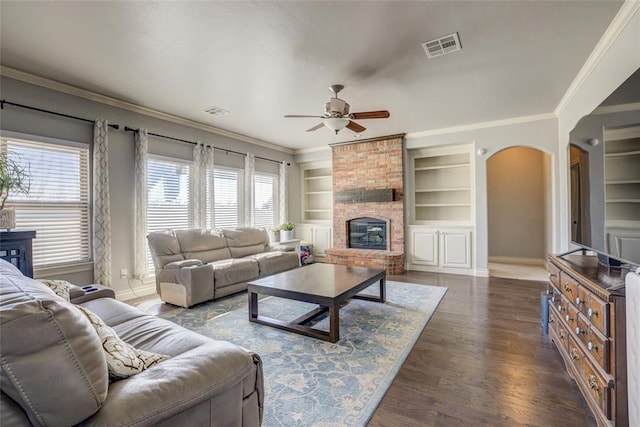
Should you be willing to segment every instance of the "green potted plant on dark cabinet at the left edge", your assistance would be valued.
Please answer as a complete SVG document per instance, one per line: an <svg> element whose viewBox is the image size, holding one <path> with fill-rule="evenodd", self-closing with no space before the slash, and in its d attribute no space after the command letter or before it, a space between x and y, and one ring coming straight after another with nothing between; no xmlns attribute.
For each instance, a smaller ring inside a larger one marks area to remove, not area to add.
<svg viewBox="0 0 640 427"><path fill-rule="evenodd" d="M5 208L12 194L28 194L30 188L29 165L12 159L6 152L0 152L0 229L16 228L16 211Z"/></svg>

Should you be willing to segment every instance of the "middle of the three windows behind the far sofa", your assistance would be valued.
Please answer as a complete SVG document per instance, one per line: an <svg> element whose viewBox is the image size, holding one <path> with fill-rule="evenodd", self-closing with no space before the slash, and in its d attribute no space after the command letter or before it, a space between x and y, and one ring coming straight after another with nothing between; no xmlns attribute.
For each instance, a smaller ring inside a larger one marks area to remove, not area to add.
<svg viewBox="0 0 640 427"><path fill-rule="evenodd" d="M241 224L242 171L216 167L214 179L214 225L215 228L237 227ZM207 197L210 190L207 191ZM210 221L211 204L207 204L207 224Z"/></svg>

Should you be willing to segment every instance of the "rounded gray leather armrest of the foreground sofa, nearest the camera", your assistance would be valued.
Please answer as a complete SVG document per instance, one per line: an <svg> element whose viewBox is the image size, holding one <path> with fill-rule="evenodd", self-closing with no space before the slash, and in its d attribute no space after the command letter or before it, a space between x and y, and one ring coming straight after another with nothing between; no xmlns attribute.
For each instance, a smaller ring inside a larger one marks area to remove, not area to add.
<svg viewBox="0 0 640 427"><path fill-rule="evenodd" d="M260 358L213 341L112 383L100 411L81 425L155 425L209 400L215 419L201 424L241 425L245 401L262 420L263 396Z"/></svg>

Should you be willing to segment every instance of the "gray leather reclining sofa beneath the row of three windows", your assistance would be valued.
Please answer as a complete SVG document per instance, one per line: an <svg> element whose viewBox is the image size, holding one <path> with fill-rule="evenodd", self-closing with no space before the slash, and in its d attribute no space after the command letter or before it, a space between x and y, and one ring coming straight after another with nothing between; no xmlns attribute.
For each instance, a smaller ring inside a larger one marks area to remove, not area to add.
<svg viewBox="0 0 640 427"><path fill-rule="evenodd" d="M300 266L293 247L271 244L266 230L166 230L147 236L164 302L181 307L247 289L247 282Z"/></svg>

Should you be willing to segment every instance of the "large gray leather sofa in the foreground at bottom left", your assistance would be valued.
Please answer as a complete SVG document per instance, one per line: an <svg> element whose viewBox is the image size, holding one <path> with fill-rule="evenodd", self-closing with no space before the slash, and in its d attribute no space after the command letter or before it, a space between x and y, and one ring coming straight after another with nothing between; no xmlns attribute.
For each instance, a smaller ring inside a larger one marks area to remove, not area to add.
<svg viewBox="0 0 640 427"><path fill-rule="evenodd" d="M260 425L257 354L106 293L72 289L69 302L0 259L0 425ZM101 338L74 300L126 343L170 358L110 382Z"/></svg>

